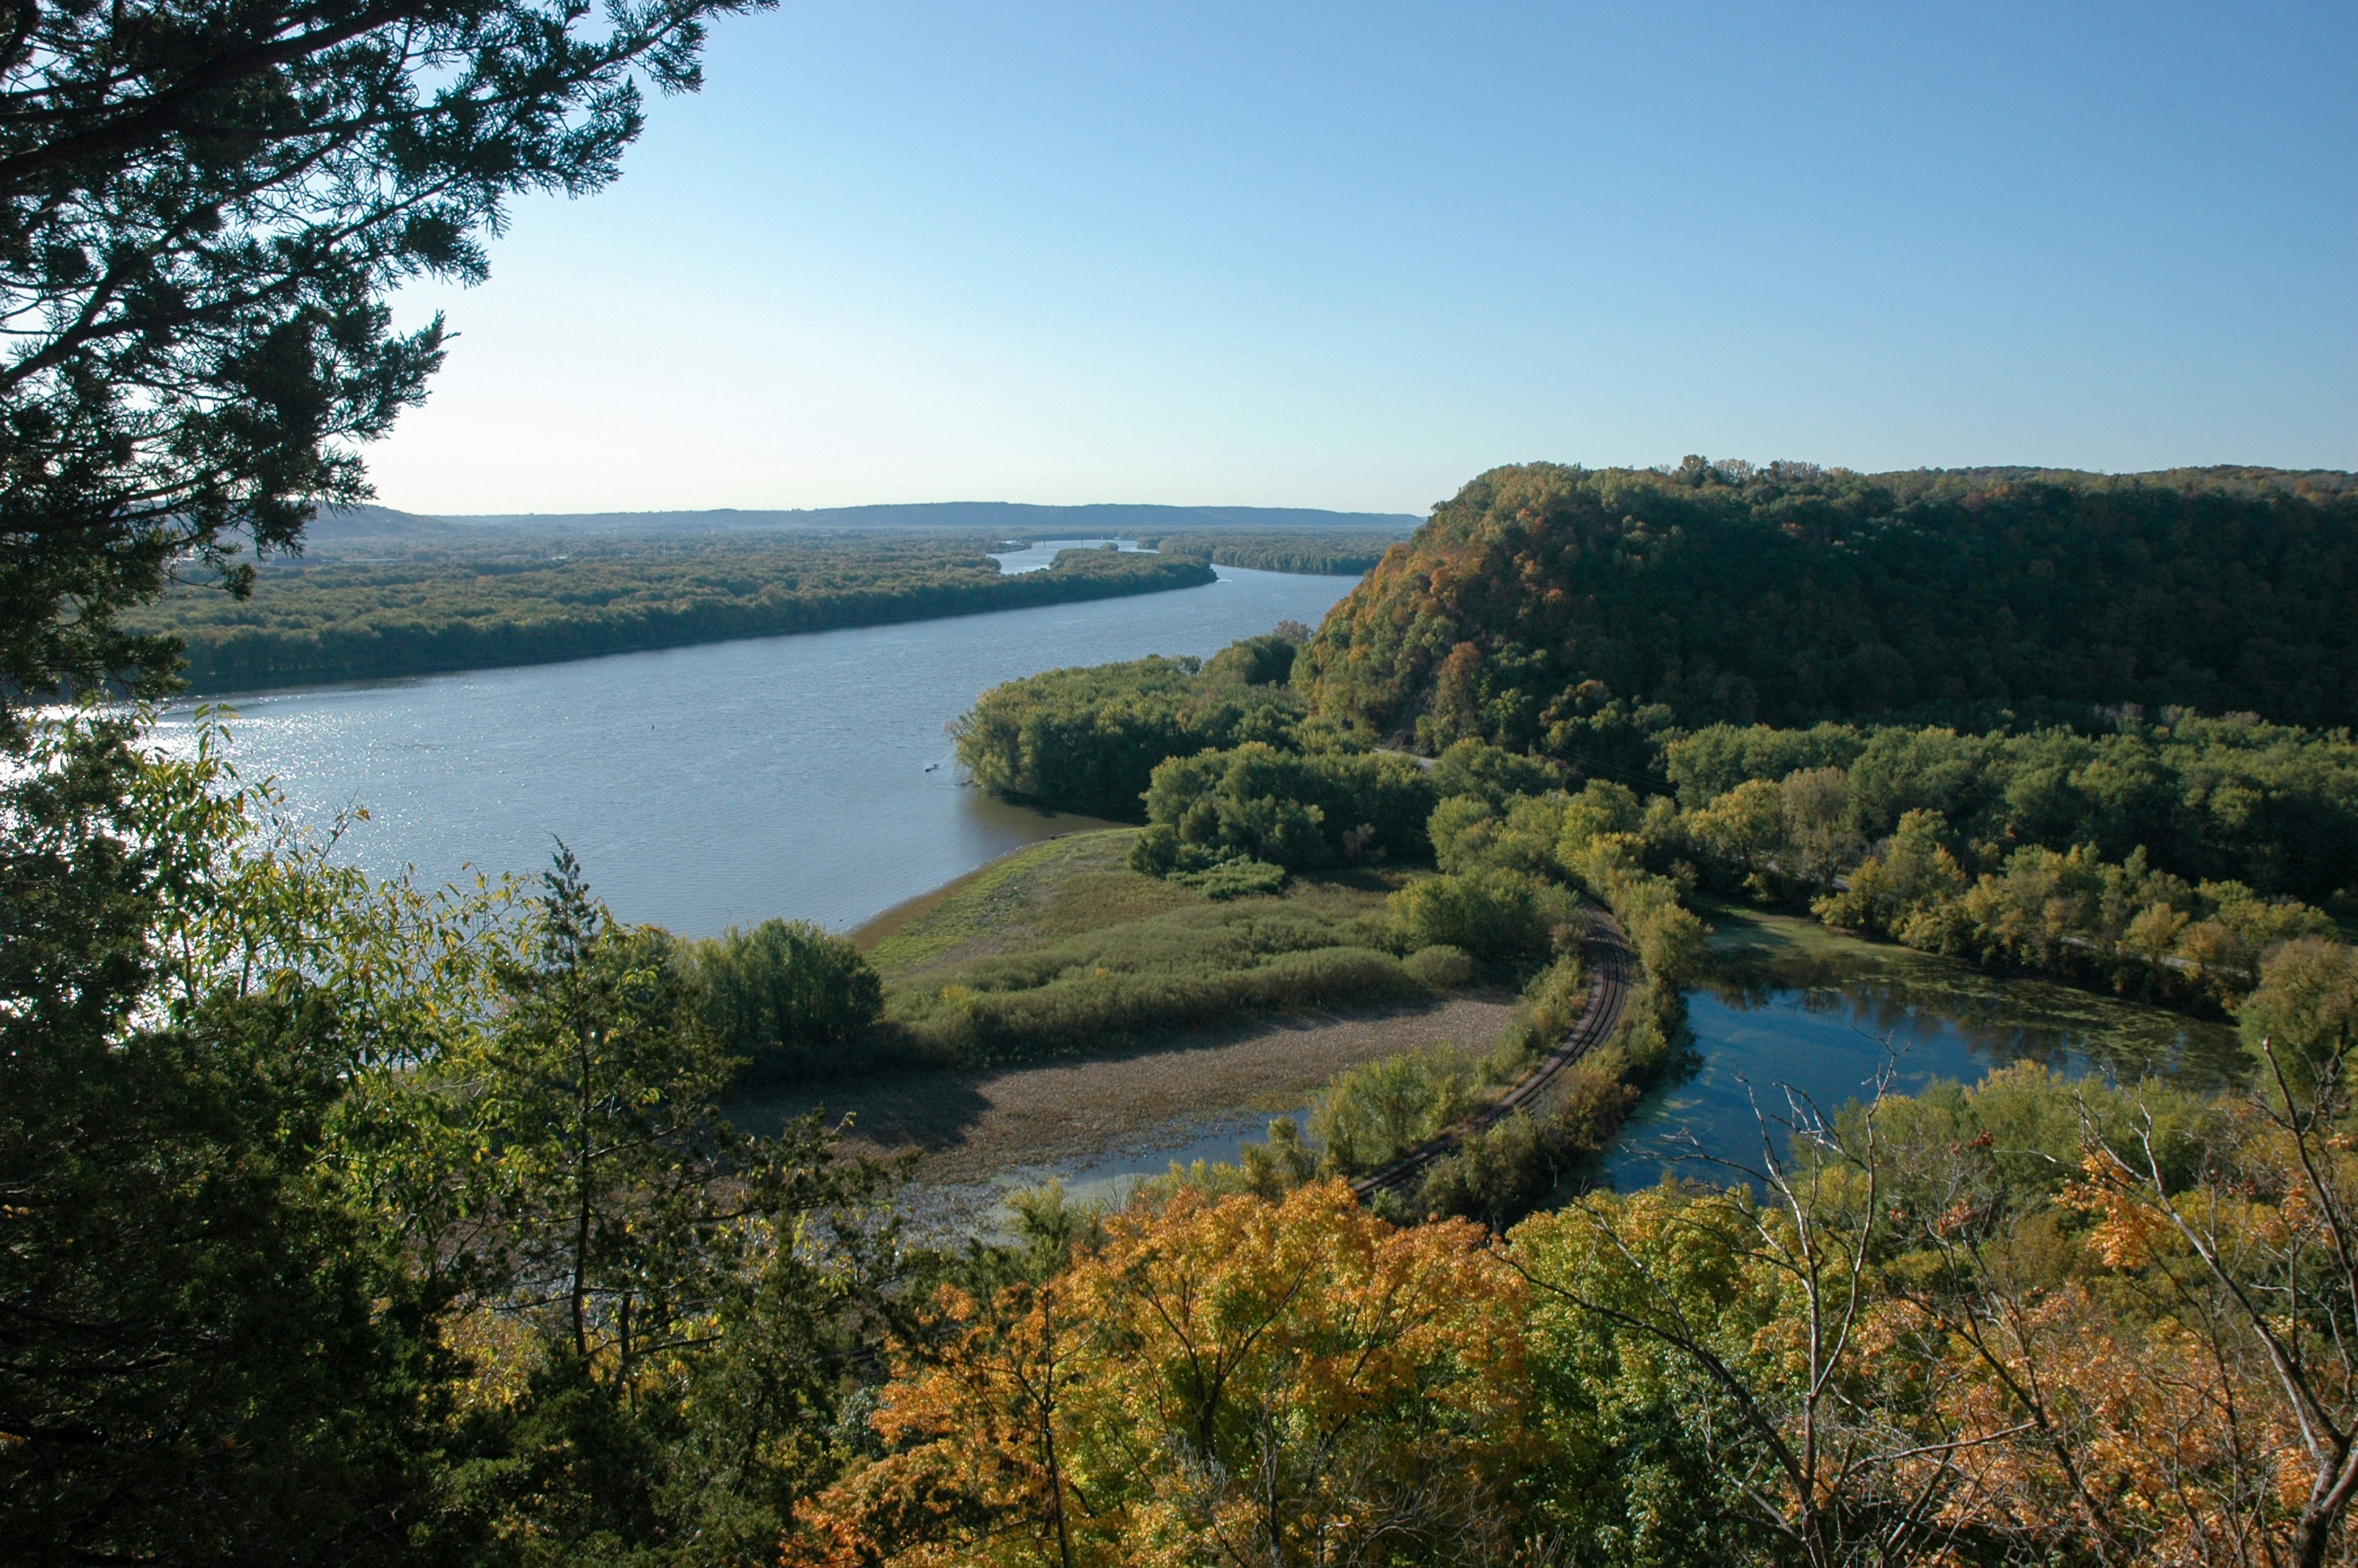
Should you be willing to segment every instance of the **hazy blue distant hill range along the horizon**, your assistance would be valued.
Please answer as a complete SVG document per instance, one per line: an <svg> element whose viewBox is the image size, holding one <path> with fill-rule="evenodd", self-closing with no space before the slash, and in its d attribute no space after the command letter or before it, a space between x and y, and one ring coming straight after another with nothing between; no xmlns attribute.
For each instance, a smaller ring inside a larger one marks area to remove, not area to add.
<svg viewBox="0 0 2358 1568"><path fill-rule="evenodd" d="M474 528L566 533L762 533L762 531L924 531L1002 538L1111 538L1137 533L1398 533L1422 516L1408 512L1318 512L1313 507L1033 507L1009 500L936 500L898 507L809 507L799 512L502 512L420 516L391 507L321 512L309 535L321 542L462 535Z"/></svg>

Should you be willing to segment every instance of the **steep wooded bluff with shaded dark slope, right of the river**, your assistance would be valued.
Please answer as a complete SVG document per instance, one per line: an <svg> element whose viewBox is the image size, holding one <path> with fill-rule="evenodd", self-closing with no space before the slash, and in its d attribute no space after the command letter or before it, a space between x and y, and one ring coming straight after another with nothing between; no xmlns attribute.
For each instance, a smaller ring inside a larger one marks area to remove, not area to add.
<svg viewBox="0 0 2358 1568"><path fill-rule="evenodd" d="M2358 719L2346 474L1502 467L1335 608L1297 681L1438 750L2023 705Z"/></svg>

